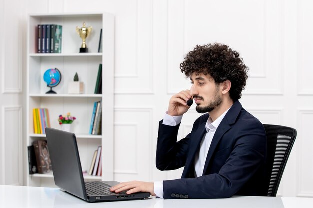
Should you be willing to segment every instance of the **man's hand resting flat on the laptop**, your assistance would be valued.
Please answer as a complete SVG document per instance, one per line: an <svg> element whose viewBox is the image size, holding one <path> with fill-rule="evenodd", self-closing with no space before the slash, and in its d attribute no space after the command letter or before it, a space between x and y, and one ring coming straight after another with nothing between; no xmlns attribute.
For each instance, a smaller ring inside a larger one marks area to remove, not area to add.
<svg viewBox="0 0 313 208"><path fill-rule="evenodd" d="M155 196L153 182L130 181L122 182L111 187L111 192L119 193L126 190L128 190L126 192L127 194L132 194L135 192L150 192L152 196Z"/></svg>

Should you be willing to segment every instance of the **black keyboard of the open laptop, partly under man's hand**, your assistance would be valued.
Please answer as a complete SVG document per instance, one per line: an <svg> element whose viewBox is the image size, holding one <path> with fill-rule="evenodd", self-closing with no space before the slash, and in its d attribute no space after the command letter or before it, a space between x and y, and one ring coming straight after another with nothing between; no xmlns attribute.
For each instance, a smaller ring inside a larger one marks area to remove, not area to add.
<svg viewBox="0 0 313 208"><path fill-rule="evenodd" d="M85 182L85 187L88 195L116 195L115 192L111 192L111 186L98 181ZM125 194L126 192L120 192L118 194Z"/></svg>

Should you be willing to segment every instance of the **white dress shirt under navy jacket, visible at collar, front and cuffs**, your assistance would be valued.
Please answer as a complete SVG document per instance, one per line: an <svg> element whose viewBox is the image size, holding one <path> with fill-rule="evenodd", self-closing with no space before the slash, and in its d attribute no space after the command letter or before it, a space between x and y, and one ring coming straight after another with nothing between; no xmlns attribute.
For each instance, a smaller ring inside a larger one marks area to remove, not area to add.
<svg viewBox="0 0 313 208"><path fill-rule="evenodd" d="M230 107L231 108L231 107ZM228 108L222 115L220 115L215 121L212 121L211 117L208 117L207 122L205 124L206 134L204 134L203 139L200 144L200 151L196 153L194 158L194 174L195 177L199 177L203 175L204 165L207 157L207 153L211 142L213 140L216 129L218 128L220 122L225 117L226 113L230 109ZM177 126L181 122L182 116L170 116L165 114L163 124L169 126ZM163 198L163 182L156 181L154 182L154 193L157 197Z"/></svg>

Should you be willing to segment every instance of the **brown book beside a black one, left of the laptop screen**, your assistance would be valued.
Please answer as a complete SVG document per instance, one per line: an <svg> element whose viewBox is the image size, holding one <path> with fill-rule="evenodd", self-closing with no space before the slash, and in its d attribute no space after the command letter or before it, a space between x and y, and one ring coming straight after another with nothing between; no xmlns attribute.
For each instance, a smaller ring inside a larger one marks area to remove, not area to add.
<svg viewBox="0 0 313 208"><path fill-rule="evenodd" d="M52 170L48 144L46 140L36 140L33 143L38 173L47 173Z"/></svg>

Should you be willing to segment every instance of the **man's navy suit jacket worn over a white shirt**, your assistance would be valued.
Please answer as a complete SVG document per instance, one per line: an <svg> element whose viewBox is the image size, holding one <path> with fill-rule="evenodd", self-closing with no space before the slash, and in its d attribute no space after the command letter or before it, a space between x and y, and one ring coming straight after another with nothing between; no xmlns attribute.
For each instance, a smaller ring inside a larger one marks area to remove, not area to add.
<svg viewBox="0 0 313 208"><path fill-rule="evenodd" d="M219 124L210 145L203 175L194 175L194 157L206 133L209 115L200 116L192 131L177 142L179 125L159 123L156 167L184 166L181 179L163 181L164 199L265 196L266 134L261 122L237 100Z"/></svg>

